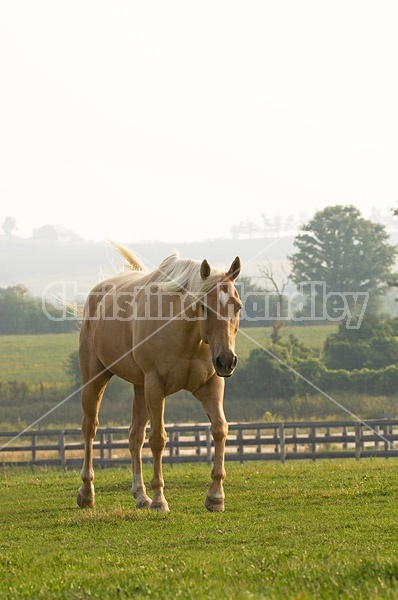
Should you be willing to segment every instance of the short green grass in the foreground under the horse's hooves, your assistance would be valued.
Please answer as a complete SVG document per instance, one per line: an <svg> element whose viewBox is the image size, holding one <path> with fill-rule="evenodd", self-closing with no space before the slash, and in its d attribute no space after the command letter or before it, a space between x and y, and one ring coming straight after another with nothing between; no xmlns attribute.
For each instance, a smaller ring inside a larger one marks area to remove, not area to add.
<svg viewBox="0 0 398 600"><path fill-rule="evenodd" d="M169 514L134 508L127 469L82 511L77 472L3 468L0 597L398 598L396 460L227 467L223 514L204 465L165 468Z"/></svg>

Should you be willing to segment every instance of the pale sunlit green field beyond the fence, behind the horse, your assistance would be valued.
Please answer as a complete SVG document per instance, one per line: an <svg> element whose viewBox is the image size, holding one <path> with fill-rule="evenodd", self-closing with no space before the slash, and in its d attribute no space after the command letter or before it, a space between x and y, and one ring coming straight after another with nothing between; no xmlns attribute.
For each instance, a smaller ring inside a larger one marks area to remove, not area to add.
<svg viewBox="0 0 398 600"><path fill-rule="evenodd" d="M326 337L336 331L336 326L288 327L284 337L293 333L303 342L321 348ZM270 328L245 328L238 333L236 348L240 360L247 358L256 340L261 345L270 344ZM252 338L252 339L251 339ZM47 335L0 336L0 381L25 381L28 385L67 383L64 370L69 354L78 347L78 332Z"/></svg>

